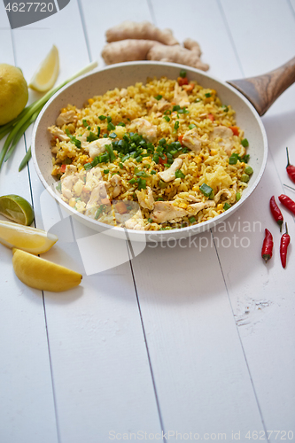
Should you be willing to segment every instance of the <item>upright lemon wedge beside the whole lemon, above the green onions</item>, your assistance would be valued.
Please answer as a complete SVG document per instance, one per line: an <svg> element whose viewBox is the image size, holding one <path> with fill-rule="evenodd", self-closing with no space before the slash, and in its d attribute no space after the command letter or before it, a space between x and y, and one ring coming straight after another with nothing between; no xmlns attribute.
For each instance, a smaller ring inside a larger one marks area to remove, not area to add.
<svg viewBox="0 0 295 443"><path fill-rule="evenodd" d="M54 86L58 78L58 48L53 45L50 52L36 70L28 87L39 92L46 92Z"/></svg>

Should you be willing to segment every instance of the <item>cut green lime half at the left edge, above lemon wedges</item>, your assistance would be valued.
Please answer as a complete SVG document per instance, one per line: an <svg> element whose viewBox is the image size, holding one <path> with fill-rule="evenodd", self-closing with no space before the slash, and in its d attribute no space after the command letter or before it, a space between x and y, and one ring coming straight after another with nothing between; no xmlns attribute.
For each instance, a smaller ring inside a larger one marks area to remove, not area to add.
<svg viewBox="0 0 295 443"><path fill-rule="evenodd" d="M26 226L32 224L35 216L33 207L26 198L13 194L0 197L0 214Z"/></svg>

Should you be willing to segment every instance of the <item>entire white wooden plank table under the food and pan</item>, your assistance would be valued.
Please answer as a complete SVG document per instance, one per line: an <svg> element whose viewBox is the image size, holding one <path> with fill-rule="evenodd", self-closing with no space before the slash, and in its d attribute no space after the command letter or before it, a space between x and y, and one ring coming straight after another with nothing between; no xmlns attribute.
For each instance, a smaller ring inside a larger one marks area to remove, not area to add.
<svg viewBox="0 0 295 443"><path fill-rule="evenodd" d="M104 66L105 30L123 19L170 27L180 41L195 38L208 74L224 81L294 56L294 0L71 0L13 31L0 2L0 62L20 66L29 81L55 43L61 82L89 61ZM83 274L80 287L59 294L19 282L12 252L1 246L1 443L295 441L295 251L291 245L283 269L268 209L272 195L295 198L283 187L292 184L286 146L295 164L295 85L262 121L268 165L226 232L147 246L134 260L87 276L74 237L60 237L57 225L58 244L43 257ZM31 131L1 170L0 190L32 201L43 228L43 198L51 199L32 163L18 173ZM294 218L283 214L295 241ZM265 228L275 239L267 266ZM74 235L81 229L74 223Z"/></svg>

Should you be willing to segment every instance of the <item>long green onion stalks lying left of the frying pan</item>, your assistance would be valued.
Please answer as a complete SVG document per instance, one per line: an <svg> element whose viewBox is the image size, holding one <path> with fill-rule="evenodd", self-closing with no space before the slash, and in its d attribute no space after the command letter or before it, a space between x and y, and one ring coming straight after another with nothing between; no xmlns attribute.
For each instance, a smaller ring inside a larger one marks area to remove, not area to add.
<svg viewBox="0 0 295 443"><path fill-rule="evenodd" d="M4 136L9 134L4 142L2 151L0 152L0 168L2 167L4 160L7 161L11 157L12 152L15 150L17 144L19 143L20 137L36 120L43 108L43 105L45 105L48 100L67 83L72 82L72 80L80 77L80 75L89 73L89 71L92 71L92 69L94 69L95 67L97 67L97 61L94 61L88 66L85 66L81 71L74 74L72 77L67 79L66 82L61 83L56 88L50 89L42 98L36 100L31 105L26 106L25 109L23 109L23 111L19 113L18 117L16 117L14 120L6 123L6 125L4 126L0 126L0 140Z"/></svg>

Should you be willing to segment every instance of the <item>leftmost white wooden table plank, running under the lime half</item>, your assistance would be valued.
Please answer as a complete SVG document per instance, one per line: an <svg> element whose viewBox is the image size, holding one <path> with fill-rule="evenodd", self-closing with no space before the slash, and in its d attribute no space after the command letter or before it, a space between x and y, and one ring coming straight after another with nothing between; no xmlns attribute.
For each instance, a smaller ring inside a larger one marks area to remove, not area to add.
<svg viewBox="0 0 295 443"><path fill-rule="evenodd" d="M3 3L0 40L1 61L14 65L12 35ZM3 144L4 140L1 148ZM1 195L14 193L31 201L27 171L17 172L23 155L24 139L1 169ZM0 249L0 439L54 443L58 438L43 296L19 282L12 269L12 252L2 245Z"/></svg>

